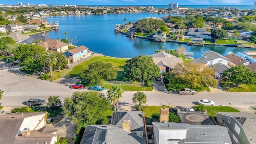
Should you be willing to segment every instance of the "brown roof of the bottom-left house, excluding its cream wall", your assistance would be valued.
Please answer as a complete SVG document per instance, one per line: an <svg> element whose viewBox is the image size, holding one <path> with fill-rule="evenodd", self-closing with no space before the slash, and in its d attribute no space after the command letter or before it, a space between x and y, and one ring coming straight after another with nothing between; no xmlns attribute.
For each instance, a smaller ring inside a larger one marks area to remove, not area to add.
<svg viewBox="0 0 256 144"><path fill-rule="evenodd" d="M23 116L22 116L23 114ZM44 126L38 130L30 130L30 136L17 136L17 133L25 118L47 114L47 112L12 113L0 116L0 144L50 144L56 129Z"/></svg>

